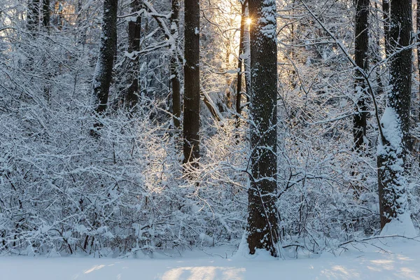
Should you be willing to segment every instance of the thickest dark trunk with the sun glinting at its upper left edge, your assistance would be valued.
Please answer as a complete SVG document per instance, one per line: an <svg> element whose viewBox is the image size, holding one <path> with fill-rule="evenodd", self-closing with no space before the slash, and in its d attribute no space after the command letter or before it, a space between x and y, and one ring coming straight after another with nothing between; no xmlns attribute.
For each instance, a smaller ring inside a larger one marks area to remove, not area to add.
<svg viewBox="0 0 420 280"><path fill-rule="evenodd" d="M249 0L251 24L251 185L248 189L247 241L251 254L276 256L277 48L275 0Z"/></svg>

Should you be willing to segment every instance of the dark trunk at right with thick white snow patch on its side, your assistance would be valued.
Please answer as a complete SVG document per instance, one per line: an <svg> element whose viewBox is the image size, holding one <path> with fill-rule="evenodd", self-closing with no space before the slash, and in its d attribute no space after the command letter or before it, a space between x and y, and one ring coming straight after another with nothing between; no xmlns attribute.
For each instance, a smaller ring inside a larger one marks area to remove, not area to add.
<svg viewBox="0 0 420 280"><path fill-rule="evenodd" d="M412 3L391 2L390 53L410 44ZM398 50L390 64L390 85L386 110L381 120L378 146L378 185L381 228L407 211L405 158L409 144L412 50ZM393 120L393 122L392 122Z"/></svg>

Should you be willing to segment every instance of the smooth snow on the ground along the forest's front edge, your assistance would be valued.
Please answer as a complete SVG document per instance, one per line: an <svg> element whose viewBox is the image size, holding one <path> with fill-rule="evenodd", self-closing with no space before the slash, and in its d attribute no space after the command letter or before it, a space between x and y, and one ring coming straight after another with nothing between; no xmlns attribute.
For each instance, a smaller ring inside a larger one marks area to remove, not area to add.
<svg viewBox="0 0 420 280"><path fill-rule="evenodd" d="M211 249L210 255L202 251L172 258L155 254L153 259L1 257L0 279L420 279L420 244L416 241L381 239L347 247L348 251L337 251L337 256L323 253L317 258L288 260L232 258L232 251L226 248Z"/></svg>

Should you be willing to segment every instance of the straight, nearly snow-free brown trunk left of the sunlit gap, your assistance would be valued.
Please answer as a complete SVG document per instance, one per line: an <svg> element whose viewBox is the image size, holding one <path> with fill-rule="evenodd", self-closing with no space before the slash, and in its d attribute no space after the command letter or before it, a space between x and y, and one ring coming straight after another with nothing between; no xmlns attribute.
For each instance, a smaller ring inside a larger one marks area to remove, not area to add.
<svg viewBox="0 0 420 280"><path fill-rule="evenodd" d="M185 1L183 163L200 158L200 1Z"/></svg>

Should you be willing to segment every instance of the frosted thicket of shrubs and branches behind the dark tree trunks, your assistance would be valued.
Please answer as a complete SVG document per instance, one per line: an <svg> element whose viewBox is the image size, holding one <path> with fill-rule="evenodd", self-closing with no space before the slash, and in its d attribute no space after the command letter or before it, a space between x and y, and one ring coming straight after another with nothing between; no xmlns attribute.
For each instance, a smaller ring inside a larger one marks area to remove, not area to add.
<svg viewBox="0 0 420 280"><path fill-rule="evenodd" d="M43 1L31 1L0 1L1 253L116 256L239 244L251 154L246 65L237 99L238 61L247 63L247 51L239 54L242 3L201 1L201 158L190 176L183 172L171 83L175 67L182 94L182 1L175 33L171 1L144 0L137 10L137 1L118 1L116 58L100 116L92 113L92 81L103 1L51 0L48 13ZM34 18L27 16L31 3L38 5ZM355 3L304 3L276 1L276 207L281 245L291 256L334 251L381 230L376 111L367 101L368 144L355 150L355 71L337 45L353 57ZM369 7L367 56L381 116L389 91L384 13L379 1ZM141 29L138 50L130 45L130 22ZM416 38L413 46L416 53ZM407 197L419 228L416 56L412 65ZM99 137L92 136L98 122Z"/></svg>

